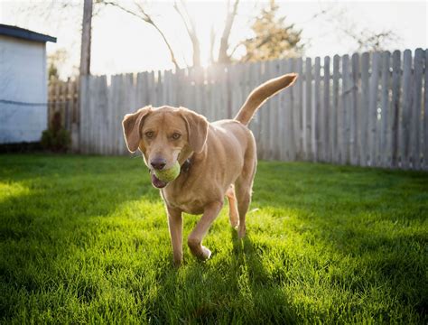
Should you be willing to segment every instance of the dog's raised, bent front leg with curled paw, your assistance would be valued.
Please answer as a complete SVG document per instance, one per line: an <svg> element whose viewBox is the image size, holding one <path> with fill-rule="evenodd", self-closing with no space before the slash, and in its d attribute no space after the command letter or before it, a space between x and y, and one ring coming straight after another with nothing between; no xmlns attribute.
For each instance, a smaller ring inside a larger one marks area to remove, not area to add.
<svg viewBox="0 0 428 325"><path fill-rule="evenodd" d="M211 255L209 249L205 246L202 246L202 239L207 235L208 229L211 226L212 222L219 215L221 208L223 207L222 201L212 202L207 205L204 209L202 218L196 225L196 227L189 235L187 243L191 248L191 254L200 258L201 260L206 260Z"/></svg>

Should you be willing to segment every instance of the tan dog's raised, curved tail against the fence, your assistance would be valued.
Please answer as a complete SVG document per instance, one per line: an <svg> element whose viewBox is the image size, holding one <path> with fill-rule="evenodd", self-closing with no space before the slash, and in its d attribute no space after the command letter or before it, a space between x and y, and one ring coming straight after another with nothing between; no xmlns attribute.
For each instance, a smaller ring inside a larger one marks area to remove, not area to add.
<svg viewBox="0 0 428 325"><path fill-rule="evenodd" d="M246 102L239 109L239 112L237 112L235 120L241 122L243 125L248 125L257 108L261 107L267 99L274 96L280 90L292 86L297 76L297 73L288 73L284 76L267 80L264 84L258 86L249 94Z"/></svg>

